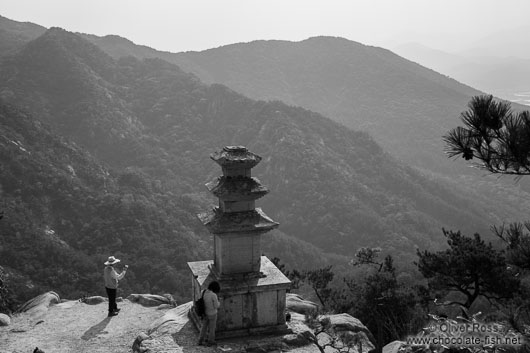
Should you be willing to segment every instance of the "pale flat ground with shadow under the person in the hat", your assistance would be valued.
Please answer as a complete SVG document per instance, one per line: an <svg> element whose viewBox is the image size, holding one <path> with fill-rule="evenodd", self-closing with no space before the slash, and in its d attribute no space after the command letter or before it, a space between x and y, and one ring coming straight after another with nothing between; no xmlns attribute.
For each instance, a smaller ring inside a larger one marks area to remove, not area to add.
<svg viewBox="0 0 530 353"><path fill-rule="evenodd" d="M0 327L0 353L129 353L141 332L166 310L124 300L118 316L107 317L107 303L69 301L52 305L41 317L19 315Z"/></svg>

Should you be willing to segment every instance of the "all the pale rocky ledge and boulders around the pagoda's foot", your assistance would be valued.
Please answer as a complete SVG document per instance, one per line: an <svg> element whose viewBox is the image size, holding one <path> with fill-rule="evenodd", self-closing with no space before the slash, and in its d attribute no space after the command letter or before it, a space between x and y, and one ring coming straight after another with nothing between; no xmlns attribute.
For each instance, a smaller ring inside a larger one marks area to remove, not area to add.
<svg viewBox="0 0 530 353"><path fill-rule="evenodd" d="M156 299L163 301L163 297L146 296L129 296L118 303L118 316L107 317L108 304L101 297L87 303L61 302L57 294L46 293L29 302L25 312L13 316L8 326L0 327L0 353L30 353L35 347L45 353L319 352L307 340L312 331L304 323L305 316L295 311L288 323L292 334L239 337L219 341L217 346L197 346L198 332L187 315L191 303L159 305ZM297 296L288 297L288 306L294 310L309 310L314 305ZM357 319L345 315L331 318L337 329L366 330ZM368 342L362 353L371 349Z"/></svg>

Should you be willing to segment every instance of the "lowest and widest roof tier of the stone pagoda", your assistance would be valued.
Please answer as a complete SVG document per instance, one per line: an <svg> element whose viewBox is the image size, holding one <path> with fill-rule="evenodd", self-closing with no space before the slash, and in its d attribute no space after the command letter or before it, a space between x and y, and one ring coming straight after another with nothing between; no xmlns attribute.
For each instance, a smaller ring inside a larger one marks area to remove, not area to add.
<svg viewBox="0 0 530 353"><path fill-rule="evenodd" d="M218 207L198 215L202 223L214 234L222 233L264 233L278 227L279 223L270 219L261 208L251 211L226 213Z"/></svg>

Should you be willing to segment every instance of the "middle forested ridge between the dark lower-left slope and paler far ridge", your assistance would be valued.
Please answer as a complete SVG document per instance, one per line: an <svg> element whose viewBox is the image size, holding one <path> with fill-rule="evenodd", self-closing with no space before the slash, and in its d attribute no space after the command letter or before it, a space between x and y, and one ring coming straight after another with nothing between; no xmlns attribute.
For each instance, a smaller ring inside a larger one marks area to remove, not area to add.
<svg viewBox="0 0 530 353"><path fill-rule="evenodd" d="M193 209L206 203L200 180L220 173L209 153L248 146L265 157L256 170L272 189L264 209L284 233L326 251L351 255L358 246L385 243L411 252L440 244L442 226L486 230L491 222L483 218L489 206L426 179L365 133L302 108L206 86L158 59L115 61L60 29L6 58L0 76L0 93L11 104L118 171L158 180L157 192L195 195Z"/></svg>

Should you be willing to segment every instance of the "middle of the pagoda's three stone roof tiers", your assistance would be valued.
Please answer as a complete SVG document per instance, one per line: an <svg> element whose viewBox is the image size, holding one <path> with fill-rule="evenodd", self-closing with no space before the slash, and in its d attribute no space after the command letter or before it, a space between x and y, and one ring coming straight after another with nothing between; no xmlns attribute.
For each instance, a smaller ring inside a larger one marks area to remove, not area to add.
<svg viewBox="0 0 530 353"><path fill-rule="evenodd" d="M269 192L257 178L245 176L220 176L207 183L206 188L223 201L252 201Z"/></svg>

